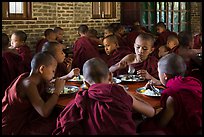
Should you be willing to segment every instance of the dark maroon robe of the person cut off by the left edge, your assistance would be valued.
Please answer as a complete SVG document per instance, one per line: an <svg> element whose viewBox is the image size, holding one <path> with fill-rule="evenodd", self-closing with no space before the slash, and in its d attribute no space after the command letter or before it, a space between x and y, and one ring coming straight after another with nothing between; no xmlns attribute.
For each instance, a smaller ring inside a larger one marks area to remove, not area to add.
<svg viewBox="0 0 204 137"><path fill-rule="evenodd" d="M22 59L18 54L9 51L2 53L2 95L10 83L24 72L23 69Z"/></svg>

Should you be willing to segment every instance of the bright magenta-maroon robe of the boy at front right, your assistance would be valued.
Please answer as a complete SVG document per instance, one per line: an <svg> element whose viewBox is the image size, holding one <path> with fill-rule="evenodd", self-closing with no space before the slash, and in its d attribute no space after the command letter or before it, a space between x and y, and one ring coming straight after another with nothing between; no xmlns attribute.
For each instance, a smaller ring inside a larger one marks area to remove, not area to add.
<svg viewBox="0 0 204 137"><path fill-rule="evenodd" d="M181 76L168 80L161 95L161 106L165 109L166 100L174 100L174 116L166 127L159 127L155 119L148 119L139 127L142 132L160 129L166 134L195 135L202 128L202 84L193 77Z"/></svg>

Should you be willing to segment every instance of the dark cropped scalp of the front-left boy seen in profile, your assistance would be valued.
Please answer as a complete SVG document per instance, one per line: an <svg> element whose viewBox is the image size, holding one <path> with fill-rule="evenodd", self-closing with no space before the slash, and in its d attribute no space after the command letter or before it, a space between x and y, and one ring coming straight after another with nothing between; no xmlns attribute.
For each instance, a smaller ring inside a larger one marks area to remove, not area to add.
<svg viewBox="0 0 204 137"><path fill-rule="evenodd" d="M31 61L31 69L37 70L42 65L49 66L53 63L57 63L57 61L52 55L50 55L48 52L39 52L35 54Z"/></svg>

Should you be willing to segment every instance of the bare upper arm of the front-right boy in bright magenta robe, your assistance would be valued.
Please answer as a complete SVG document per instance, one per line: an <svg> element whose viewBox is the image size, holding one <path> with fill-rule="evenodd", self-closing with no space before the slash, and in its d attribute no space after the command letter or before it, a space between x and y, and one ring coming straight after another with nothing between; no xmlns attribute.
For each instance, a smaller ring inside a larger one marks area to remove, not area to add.
<svg viewBox="0 0 204 137"><path fill-rule="evenodd" d="M166 108L157 115L158 124L161 127L165 127L172 119L174 113L174 101L173 98L169 96L166 101Z"/></svg>

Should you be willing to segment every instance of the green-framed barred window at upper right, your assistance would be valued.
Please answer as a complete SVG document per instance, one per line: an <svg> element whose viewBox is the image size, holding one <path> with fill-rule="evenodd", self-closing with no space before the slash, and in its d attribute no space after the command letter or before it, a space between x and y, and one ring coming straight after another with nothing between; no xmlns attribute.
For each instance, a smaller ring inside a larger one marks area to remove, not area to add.
<svg viewBox="0 0 204 137"><path fill-rule="evenodd" d="M188 2L147 2L143 5L142 23L151 31L162 21L174 32L190 30L190 6ZM156 13L156 14L155 14Z"/></svg>

